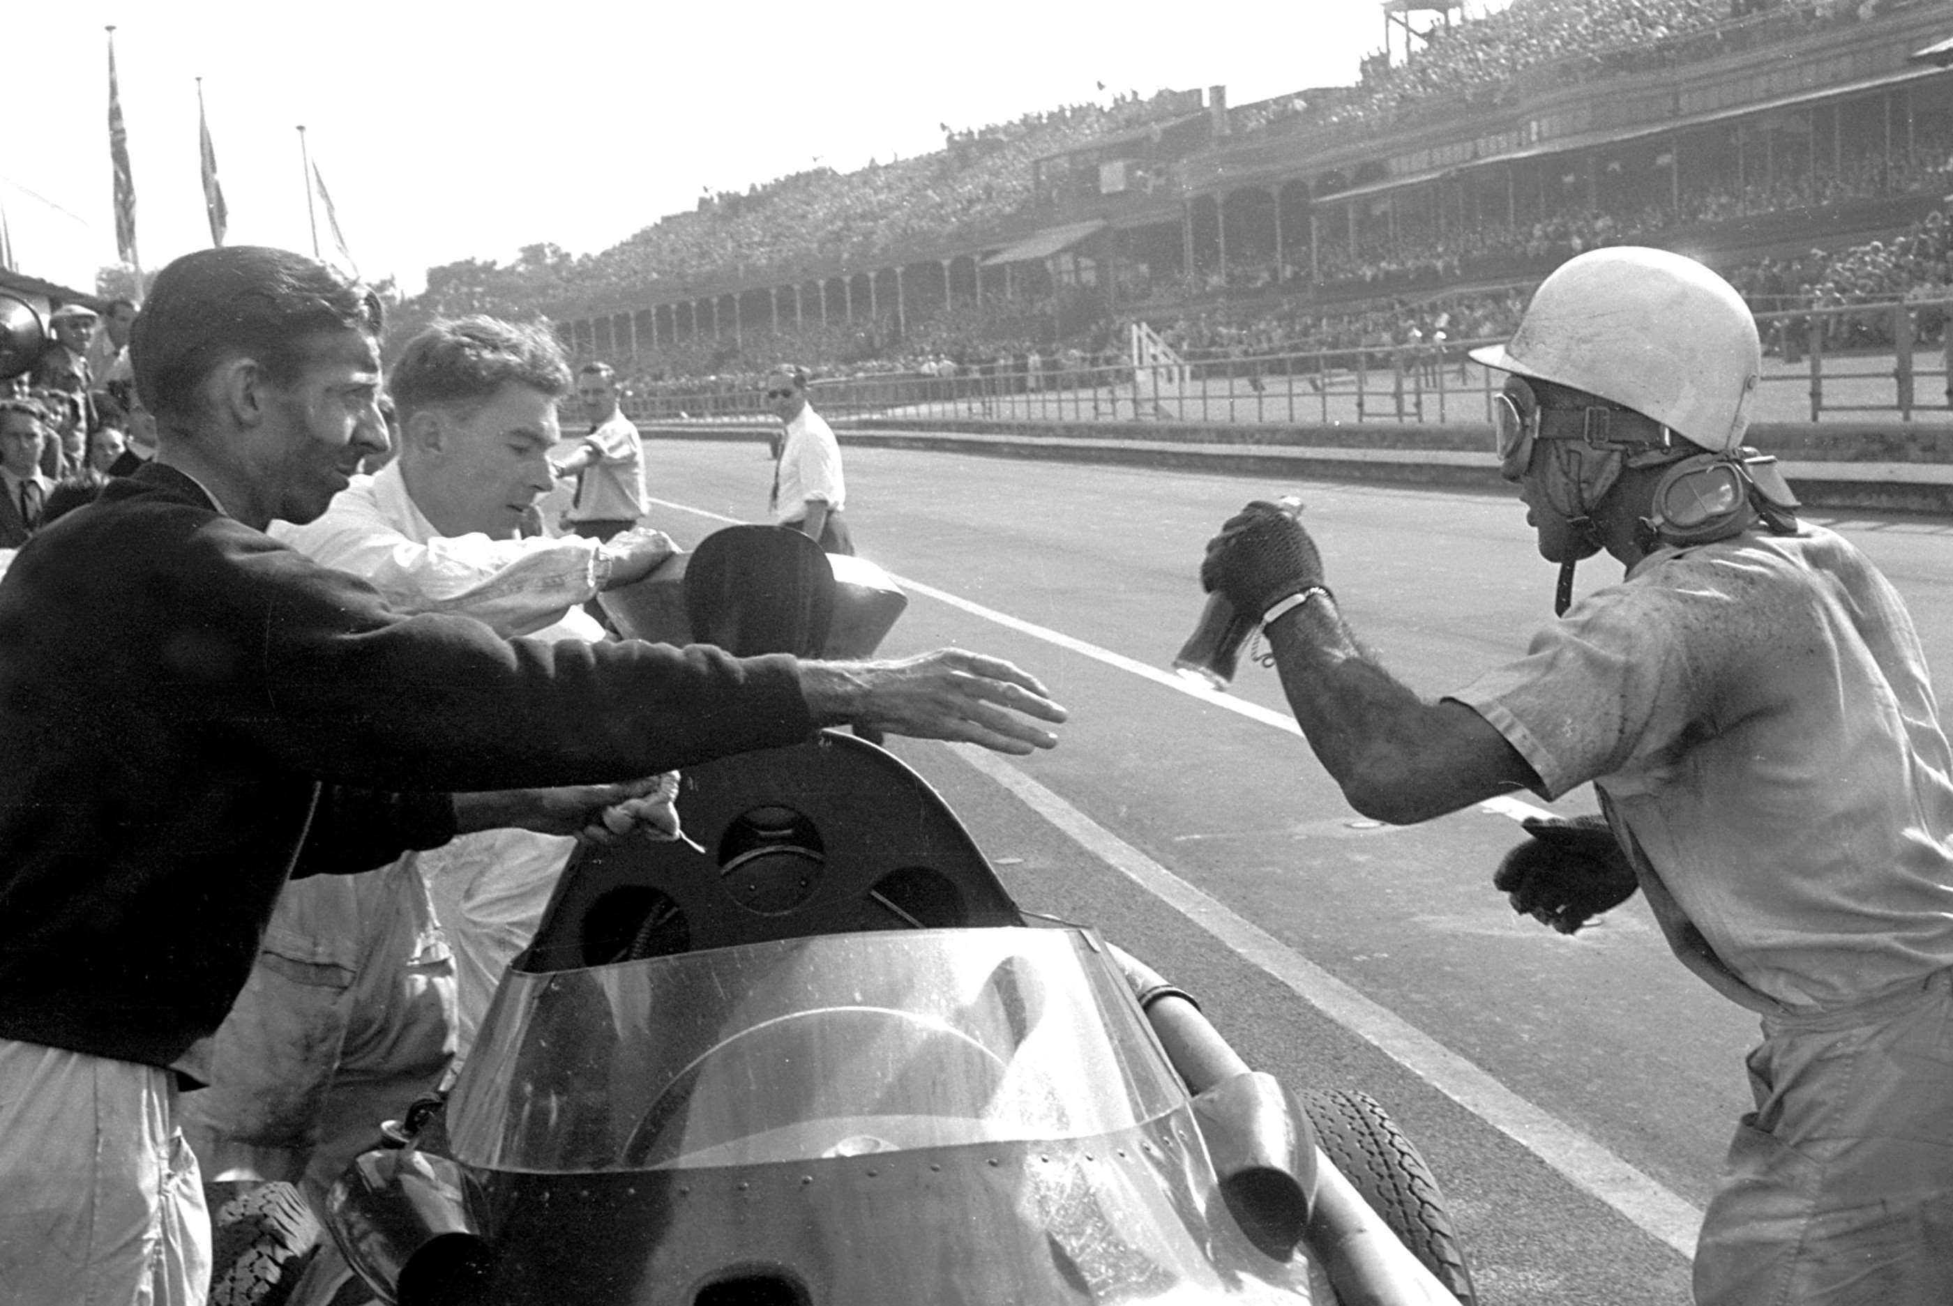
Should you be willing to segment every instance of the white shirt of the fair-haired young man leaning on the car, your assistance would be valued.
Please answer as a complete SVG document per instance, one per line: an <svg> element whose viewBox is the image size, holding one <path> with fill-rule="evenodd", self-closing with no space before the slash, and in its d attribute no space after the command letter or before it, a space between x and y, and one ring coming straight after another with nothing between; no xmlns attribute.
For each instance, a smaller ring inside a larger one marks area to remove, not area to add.
<svg viewBox="0 0 1953 1306"><path fill-rule="evenodd" d="M596 541L443 537L414 506L398 463L353 476L316 521L273 521L270 535L359 576L400 611L459 613L504 636L603 638L580 607L596 593ZM455 953L457 1062L475 1044L508 962L535 935L574 847L570 837L484 830L406 855Z"/></svg>

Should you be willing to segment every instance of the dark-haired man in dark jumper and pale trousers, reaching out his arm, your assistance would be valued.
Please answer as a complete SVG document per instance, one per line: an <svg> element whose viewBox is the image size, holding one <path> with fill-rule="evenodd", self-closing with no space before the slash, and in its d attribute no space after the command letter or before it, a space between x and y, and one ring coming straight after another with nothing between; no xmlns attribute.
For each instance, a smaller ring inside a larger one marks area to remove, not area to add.
<svg viewBox="0 0 1953 1306"><path fill-rule="evenodd" d="M0 582L0 1302L203 1300L168 1068L289 877L574 834L635 777L822 724L1057 742L1037 722L1064 711L994 658L502 640L273 543L383 447L379 334L379 299L314 260L176 260L131 340L156 461Z"/></svg>

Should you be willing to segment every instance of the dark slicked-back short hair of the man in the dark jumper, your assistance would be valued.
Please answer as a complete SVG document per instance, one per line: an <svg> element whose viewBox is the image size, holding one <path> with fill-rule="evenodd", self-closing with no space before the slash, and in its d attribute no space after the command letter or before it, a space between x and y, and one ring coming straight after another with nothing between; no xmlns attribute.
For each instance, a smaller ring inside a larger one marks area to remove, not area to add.
<svg viewBox="0 0 1953 1306"><path fill-rule="evenodd" d="M383 320L373 291L318 260L250 244L197 250L156 273L129 330L129 363L158 420L195 418L219 363L256 359L271 381L291 383L311 338L379 338Z"/></svg>

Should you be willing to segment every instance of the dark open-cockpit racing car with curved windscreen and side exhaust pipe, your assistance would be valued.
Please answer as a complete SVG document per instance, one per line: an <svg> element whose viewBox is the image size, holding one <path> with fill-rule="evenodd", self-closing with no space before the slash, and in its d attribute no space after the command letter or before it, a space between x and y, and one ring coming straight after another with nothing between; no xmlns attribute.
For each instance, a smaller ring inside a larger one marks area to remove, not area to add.
<svg viewBox="0 0 1953 1306"><path fill-rule="evenodd" d="M783 527L674 566L605 595L627 634L865 656L904 601ZM1375 1101L1293 1093L1027 916L893 754L824 730L678 804L695 845L572 859L451 1091L334 1185L379 1300L1473 1302Z"/></svg>

